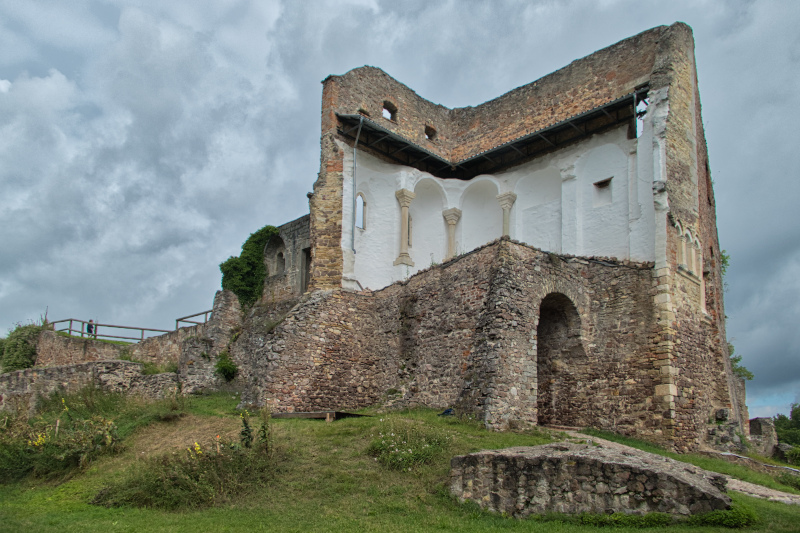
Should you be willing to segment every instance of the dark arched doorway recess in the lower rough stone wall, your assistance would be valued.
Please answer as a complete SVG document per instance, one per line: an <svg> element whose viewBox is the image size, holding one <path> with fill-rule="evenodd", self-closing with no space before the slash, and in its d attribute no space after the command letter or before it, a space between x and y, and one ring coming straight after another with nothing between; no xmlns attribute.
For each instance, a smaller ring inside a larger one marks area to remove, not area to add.
<svg viewBox="0 0 800 533"><path fill-rule="evenodd" d="M575 304L561 293L548 294L539 307L536 328L539 425L588 425L588 359L581 342Z"/></svg>

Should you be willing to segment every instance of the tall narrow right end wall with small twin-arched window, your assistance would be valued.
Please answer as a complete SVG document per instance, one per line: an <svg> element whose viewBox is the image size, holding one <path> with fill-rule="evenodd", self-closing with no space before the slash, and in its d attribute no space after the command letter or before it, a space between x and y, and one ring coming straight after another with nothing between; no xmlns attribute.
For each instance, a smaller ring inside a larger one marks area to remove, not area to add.
<svg viewBox="0 0 800 533"><path fill-rule="evenodd" d="M694 42L687 26L664 35L656 52L651 88L667 87L669 113L665 131L666 191L669 227L666 268L658 274L661 314L659 359L661 384L654 401L662 412L665 434L678 450L694 449L714 413L730 409L746 432L725 340L722 279L713 189L700 115ZM679 265L681 235L673 225L698 236L703 264ZM705 303L705 307L704 307ZM742 402L743 403L743 402Z"/></svg>

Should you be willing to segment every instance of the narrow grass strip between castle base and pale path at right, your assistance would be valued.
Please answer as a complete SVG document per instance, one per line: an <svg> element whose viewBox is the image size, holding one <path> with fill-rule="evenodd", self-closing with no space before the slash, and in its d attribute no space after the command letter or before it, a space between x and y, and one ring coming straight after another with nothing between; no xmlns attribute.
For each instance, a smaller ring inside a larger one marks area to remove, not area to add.
<svg viewBox="0 0 800 533"><path fill-rule="evenodd" d="M625 444L627 446L631 446L632 448L638 448L646 452L654 453L657 455L663 455L665 457L670 457L678 461L683 461L684 463L690 463L704 470L710 470L711 472L725 474L731 477L735 477L736 479L741 479L742 481L755 483L756 485L763 485L764 487L781 490L783 492L790 492L792 494L800 494L800 490L796 489L793 486L780 483L776 479L776 477L773 477L769 474L764 474L762 472L757 472L755 470L751 470L750 468L747 468L744 465L728 462L725 459L709 457L707 455L691 454L691 453L687 454L673 453L664 450L663 448L660 448L655 444L651 444L649 442L641 441L638 439L632 439L630 437L624 437L622 435L617 435L616 433L610 433L608 431L600 431L597 429L585 429L583 430L583 433L587 435L593 435L595 437L600 437L606 440L610 440L612 442ZM777 476L778 474L779 472L776 471L775 475Z"/></svg>

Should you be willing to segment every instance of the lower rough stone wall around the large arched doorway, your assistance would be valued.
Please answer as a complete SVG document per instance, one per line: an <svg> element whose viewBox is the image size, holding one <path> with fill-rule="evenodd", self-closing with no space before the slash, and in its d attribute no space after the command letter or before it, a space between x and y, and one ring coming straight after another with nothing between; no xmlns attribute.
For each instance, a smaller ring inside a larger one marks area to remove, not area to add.
<svg viewBox="0 0 800 533"><path fill-rule="evenodd" d="M558 392L559 416L671 445L652 401L652 265L508 240L374 293L312 293L274 329L251 317L232 347L242 399L276 411L456 406L497 429L536 424L537 320L552 293L576 307L585 353L557 363L577 384Z"/></svg>

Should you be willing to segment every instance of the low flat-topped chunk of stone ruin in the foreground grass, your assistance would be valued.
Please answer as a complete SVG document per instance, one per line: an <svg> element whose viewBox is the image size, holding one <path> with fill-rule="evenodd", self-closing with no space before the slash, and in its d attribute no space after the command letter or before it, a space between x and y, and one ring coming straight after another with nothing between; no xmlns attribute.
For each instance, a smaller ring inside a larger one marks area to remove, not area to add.
<svg viewBox="0 0 800 533"><path fill-rule="evenodd" d="M729 509L727 480L646 452L556 443L451 461L450 491L518 518L558 512L691 515Z"/></svg>

